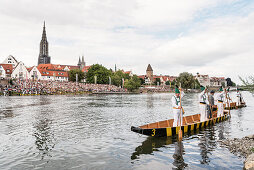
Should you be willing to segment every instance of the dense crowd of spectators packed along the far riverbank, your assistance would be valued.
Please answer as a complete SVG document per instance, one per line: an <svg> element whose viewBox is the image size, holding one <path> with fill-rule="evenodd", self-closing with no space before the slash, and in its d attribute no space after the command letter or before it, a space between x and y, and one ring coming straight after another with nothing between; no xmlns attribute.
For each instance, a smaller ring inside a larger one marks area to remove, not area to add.
<svg viewBox="0 0 254 170"><path fill-rule="evenodd" d="M85 84L59 81L18 80L13 85L0 85L2 95L50 95L86 92L126 92L126 89L107 84Z"/></svg>

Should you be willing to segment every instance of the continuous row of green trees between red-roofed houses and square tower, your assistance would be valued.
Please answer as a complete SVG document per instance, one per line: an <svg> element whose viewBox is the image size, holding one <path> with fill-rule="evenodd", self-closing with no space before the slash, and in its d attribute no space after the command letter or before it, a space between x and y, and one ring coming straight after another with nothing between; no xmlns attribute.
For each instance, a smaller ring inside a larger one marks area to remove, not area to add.
<svg viewBox="0 0 254 170"><path fill-rule="evenodd" d="M68 75L70 81L76 81L77 77L80 82L85 78L87 83L124 86L129 91L134 91L141 86L141 80L137 75L130 76L120 70L113 72L100 64L92 65L86 74L79 69L74 69L69 71Z"/></svg>

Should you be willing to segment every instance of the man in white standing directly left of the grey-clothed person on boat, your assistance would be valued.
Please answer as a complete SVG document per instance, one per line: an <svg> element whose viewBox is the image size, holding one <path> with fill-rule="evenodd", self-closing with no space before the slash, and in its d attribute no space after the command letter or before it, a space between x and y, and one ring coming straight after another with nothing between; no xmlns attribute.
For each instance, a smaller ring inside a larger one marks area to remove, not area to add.
<svg viewBox="0 0 254 170"><path fill-rule="evenodd" d="M207 96L207 88L201 86L201 93L199 94L199 111L200 111L200 122L204 122L207 120L207 105L208 96Z"/></svg>

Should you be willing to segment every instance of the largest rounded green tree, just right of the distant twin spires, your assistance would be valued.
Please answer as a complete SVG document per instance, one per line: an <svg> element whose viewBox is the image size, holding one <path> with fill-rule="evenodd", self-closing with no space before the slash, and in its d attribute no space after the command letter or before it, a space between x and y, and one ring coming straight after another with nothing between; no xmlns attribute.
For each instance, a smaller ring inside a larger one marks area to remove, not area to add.
<svg viewBox="0 0 254 170"><path fill-rule="evenodd" d="M112 72L106 67L100 64L94 64L88 69L86 81L88 83L95 83L94 76L96 76L98 84L108 84L111 74Z"/></svg>

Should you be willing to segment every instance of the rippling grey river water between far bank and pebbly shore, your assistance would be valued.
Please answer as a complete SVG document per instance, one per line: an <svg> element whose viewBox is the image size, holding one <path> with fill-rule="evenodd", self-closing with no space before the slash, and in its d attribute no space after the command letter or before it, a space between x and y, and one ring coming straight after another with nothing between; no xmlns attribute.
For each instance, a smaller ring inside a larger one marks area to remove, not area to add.
<svg viewBox="0 0 254 170"><path fill-rule="evenodd" d="M183 98L186 115L197 96ZM182 142L130 130L173 118L169 93L0 96L0 169L242 169L218 141L254 133L254 98L243 96L248 107Z"/></svg>

